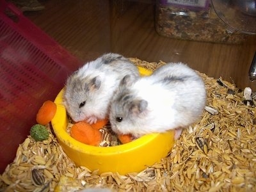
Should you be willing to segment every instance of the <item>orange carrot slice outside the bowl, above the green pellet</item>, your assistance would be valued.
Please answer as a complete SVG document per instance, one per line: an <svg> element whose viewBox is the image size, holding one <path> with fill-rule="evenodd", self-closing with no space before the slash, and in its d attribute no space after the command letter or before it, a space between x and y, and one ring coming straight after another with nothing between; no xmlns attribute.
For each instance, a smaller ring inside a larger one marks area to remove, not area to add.
<svg viewBox="0 0 256 192"><path fill-rule="evenodd" d="M57 106L51 100L46 100L36 114L36 122L41 125L46 125L51 122L57 111Z"/></svg>

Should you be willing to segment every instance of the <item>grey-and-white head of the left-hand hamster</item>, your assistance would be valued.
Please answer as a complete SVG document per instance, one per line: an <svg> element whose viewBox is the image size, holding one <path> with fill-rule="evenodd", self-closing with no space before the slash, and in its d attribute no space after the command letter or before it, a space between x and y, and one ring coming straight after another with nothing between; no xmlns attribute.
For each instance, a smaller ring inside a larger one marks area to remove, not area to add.
<svg viewBox="0 0 256 192"><path fill-rule="evenodd" d="M100 76L80 77L77 72L68 77L63 95L68 115L75 122L87 120L93 123L97 118L104 118L104 111L95 106L95 95L101 86Z"/></svg>

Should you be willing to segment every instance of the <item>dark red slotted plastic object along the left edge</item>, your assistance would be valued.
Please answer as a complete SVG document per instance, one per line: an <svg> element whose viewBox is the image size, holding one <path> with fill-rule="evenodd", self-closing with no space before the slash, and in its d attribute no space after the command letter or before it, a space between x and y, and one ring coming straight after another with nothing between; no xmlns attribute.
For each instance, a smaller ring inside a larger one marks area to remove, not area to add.
<svg viewBox="0 0 256 192"><path fill-rule="evenodd" d="M36 124L45 100L54 100L81 61L22 12L0 0L0 172Z"/></svg>

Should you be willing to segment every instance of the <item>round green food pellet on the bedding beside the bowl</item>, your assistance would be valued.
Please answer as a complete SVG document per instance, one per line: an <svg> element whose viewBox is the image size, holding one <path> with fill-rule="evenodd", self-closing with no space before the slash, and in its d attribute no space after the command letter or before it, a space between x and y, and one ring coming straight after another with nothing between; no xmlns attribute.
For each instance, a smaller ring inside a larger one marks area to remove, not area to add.
<svg viewBox="0 0 256 192"><path fill-rule="evenodd" d="M49 137L49 131L44 125L35 124L30 129L31 137L36 141L44 141Z"/></svg>

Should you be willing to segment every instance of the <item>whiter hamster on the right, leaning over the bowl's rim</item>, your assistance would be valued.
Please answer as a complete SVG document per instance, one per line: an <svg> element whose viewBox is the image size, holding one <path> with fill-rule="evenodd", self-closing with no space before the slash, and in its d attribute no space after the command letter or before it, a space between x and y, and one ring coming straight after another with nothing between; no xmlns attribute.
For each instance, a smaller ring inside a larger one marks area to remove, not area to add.
<svg viewBox="0 0 256 192"><path fill-rule="evenodd" d="M177 139L200 118L205 102L202 78L183 63L168 63L136 81L125 76L111 100L109 120L117 134L139 138L175 129Z"/></svg>

